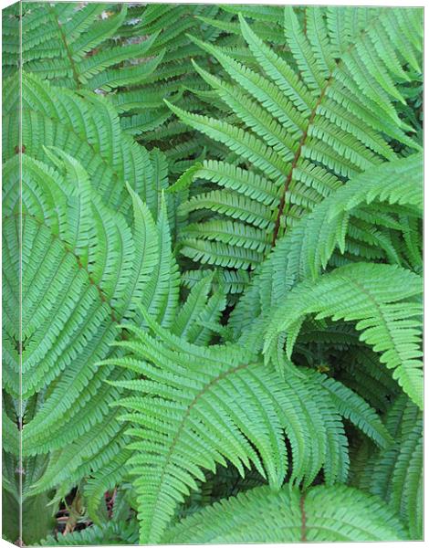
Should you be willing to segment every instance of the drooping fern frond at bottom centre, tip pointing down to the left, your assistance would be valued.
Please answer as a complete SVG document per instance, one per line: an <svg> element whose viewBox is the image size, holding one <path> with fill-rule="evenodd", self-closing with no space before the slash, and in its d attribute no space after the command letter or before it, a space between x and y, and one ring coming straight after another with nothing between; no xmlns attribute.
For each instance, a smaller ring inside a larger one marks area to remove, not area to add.
<svg viewBox="0 0 429 548"><path fill-rule="evenodd" d="M129 410L122 419L138 425L130 432L137 439L130 463L137 476L141 543L160 541L177 501L197 489L195 479L204 480L202 469L225 466L225 458L242 475L252 464L278 489L288 468L283 429L292 447L291 478L306 483L323 464L329 483L347 477L347 439L339 415L382 446L389 443L378 417L345 387L312 375L282 384L274 371L237 347L204 350L164 331L149 316L146 321L161 340L128 326L135 340L118 344L131 354L108 362L140 377L115 385L135 393L120 406ZM324 417L309 403L309 391ZM243 393L246 399L239 397ZM313 439L313 448L306 438Z"/></svg>

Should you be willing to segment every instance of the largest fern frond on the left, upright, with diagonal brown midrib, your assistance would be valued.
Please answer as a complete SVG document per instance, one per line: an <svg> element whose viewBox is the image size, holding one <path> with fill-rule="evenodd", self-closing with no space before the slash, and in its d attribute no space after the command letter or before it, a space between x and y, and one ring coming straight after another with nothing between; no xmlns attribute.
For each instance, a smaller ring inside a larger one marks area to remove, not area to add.
<svg viewBox="0 0 429 548"><path fill-rule="evenodd" d="M104 379L117 378L118 373L94 364L110 355L109 344L117 337L121 319L139 321L137 302L157 311L162 321L171 321L179 281L173 263L167 272L155 269L160 257L165 262L169 252L164 206L156 227L147 205L134 197L131 231L125 218L104 205L90 187L82 166L68 154L54 151L57 155L47 149L45 153L63 175L23 157L22 395L31 401L49 386L43 405L26 424L23 448L28 455L57 450L34 492L101 466L115 454L120 440L123 443L123 427L112 422L114 413L107 407L117 393L103 385ZM16 173L16 160L5 164L6 195L11 197L7 189L15 179L8 174ZM11 253L17 253L19 241L18 206L4 202L5 243ZM141 256L135 246L141 250L144 245ZM148 290L143 299L144 288ZM6 374L5 388L17 396L13 371L18 355L13 341L19 334L15 329L12 323L6 332L5 367L10 374ZM95 431L97 442L89 444ZM90 468L85 464L89 458L93 458Z"/></svg>

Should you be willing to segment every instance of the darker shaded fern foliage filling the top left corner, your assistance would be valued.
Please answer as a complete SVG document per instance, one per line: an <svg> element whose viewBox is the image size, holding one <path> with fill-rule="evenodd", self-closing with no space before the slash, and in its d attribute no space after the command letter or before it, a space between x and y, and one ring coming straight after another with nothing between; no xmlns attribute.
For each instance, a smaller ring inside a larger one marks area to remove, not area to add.
<svg viewBox="0 0 429 548"><path fill-rule="evenodd" d="M175 146L165 148L159 138L160 132L175 127L181 139L187 137L190 150L173 163L187 160L201 152L201 145L183 124L172 119L162 101L169 97L183 107L203 109L204 103L196 96L190 99L188 92L201 88L189 73L190 59L201 55L186 35L201 27L202 38L216 39L219 30L197 19L204 14L216 16L220 10L217 6L177 5L172 14L162 5L24 3L24 68L68 89L95 90L108 96L121 115L122 129L150 148L161 145L166 153L177 152ZM5 75L15 69L18 44L10 44L9 50Z"/></svg>

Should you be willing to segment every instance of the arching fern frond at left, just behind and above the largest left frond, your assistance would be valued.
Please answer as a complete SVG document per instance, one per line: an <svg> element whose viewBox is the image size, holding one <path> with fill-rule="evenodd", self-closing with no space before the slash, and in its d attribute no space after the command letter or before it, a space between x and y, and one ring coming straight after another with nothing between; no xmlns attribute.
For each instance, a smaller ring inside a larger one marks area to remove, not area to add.
<svg viewBox="0 0 429 548"><path fill-rule="evenodd" d="M6 103L6 117L15 116L17 97ZM131 200L124 182L145 197L152 184L151 156L120 131L118 116L106 100L94 95L83 97L25 75L22 142L26 154L47 162L42 144L61 148L85 167L91 184L108 205L128 212ZM16 155L18 145L8 141L6 158Z"/></svg>

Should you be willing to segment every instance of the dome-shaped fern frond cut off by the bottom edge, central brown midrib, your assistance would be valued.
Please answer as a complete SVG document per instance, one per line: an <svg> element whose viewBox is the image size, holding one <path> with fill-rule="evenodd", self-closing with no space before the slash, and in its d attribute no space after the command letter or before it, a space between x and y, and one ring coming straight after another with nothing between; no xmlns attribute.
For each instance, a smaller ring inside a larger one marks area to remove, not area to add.
<svg viewBox="0 0 429 548"><path fill-rule="evenodd" d="M399 518L374 496L346 487L301 494L286 485L241 493L185 518L164 543L294 543L403 540Z"/></svg>

